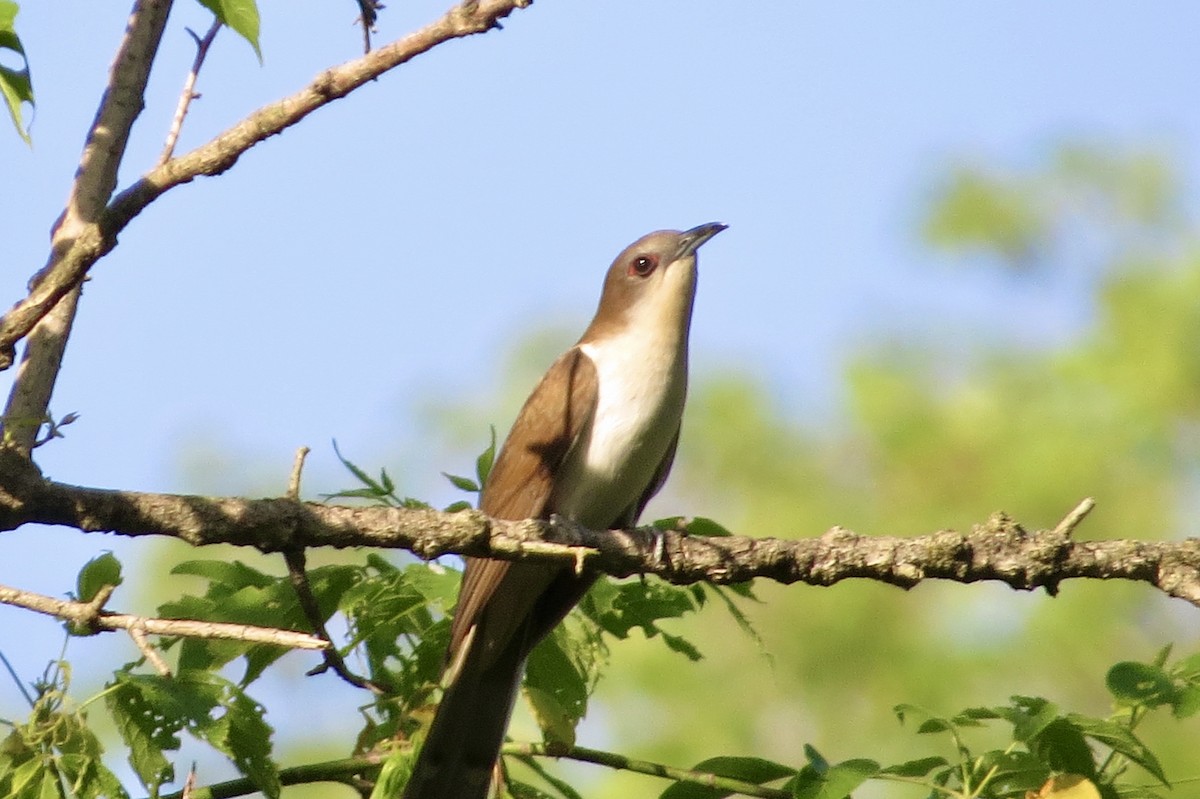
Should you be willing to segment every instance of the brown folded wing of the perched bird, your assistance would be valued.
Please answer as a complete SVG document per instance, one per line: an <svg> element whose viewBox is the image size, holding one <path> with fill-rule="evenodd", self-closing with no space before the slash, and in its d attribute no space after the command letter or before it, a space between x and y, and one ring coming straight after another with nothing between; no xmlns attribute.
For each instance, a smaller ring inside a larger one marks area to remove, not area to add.
<svg viewBox="0 0 1200 799"><path fill-rule="evenodd" d="M517 414L484 487L480 510L504 519L547 516L546 505L558 467L592 419L595 407L595 366L582 350L571 348L554 361ZM515 565L520 567L514 569ZM458 606L450 625L448 659L457 654L502 582L508 584L498 597L504 607L493 608L493 615L502 621L492 623L488 630L488 635L497 638L520 625L554 573L554 569L532 564L467 558ZM517 582L520 585L515 585Z"/></svg>

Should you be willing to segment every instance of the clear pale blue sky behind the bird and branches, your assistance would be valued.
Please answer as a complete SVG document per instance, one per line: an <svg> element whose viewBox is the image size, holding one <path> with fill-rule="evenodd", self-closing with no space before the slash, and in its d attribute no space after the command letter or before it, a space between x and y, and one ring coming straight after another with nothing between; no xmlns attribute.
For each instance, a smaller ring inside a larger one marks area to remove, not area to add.
<svg viewBox="0 0 1200 799"><path fill-rule="evenodd" d="M390 2L377 41L442 10ZM349 0L262 11L264 64L222 32L182 150L358 54ZM125 13L22 4L38 108L32 149L0 131L8 302L44 263ZM206 13L176 4L122 186L157 156L192 59L184 28ZM701 259L695 368L761 376L800 422L836 405L847 354L985 335L974 320L997 298L1009 326L986 335L1060 340L1086 298L1052 276L950 268L919 246L919 200L948 160L1033 164L1072 139L1169 154L1194 205L1198 30L1192 2L538 0L137 218L92 272L53 403L80 419L38 459L71 482L199 491L187 452L229 452L212 483L259 489L274 468L282 491L307 444L316 493L344 485L336 438L449 501L438 473L468 467L425 462L439 441L420 402L494 390L526 332L582 330L628 242L709 221L731 227ZM60 595L104 548L136 552L5 534L0 583ZM0 643L18 632L26 645L5 651L29 678L58 632L0 608ZM0 716L17 702L0 685Z"/></svg>

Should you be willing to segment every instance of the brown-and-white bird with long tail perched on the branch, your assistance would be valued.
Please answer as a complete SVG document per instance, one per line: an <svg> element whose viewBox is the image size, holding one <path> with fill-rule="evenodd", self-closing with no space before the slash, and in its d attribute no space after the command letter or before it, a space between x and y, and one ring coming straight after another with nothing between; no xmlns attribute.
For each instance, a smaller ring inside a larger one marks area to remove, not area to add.
<svg viewBox="0 0 1200 799"><path fill-rule="evenodd" d="M688 390L696 250L715 222L642 236L612 263L595 318L541 378L484 486L494 518L632 527L666 480ZM404 799L486 799L526 656L595 575L468 558L445 693Z"/></svg>

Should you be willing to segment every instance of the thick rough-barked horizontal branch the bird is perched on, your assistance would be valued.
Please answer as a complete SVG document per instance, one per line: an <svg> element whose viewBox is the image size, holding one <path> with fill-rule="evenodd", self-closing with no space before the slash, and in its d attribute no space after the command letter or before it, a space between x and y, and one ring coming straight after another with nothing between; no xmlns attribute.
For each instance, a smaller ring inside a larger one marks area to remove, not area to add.
<svg viewBox="0 0 1200 799"><path fill-rule="evenodd" d="M42 523L263 552L384 547L426 559L449 553L558 559L617 577L656 575L678 584L766 577L832 585L859 577L908 588L938 578L990 579L1055 593L1064 579L1133 579L1200 606L1200 540L1074 541L1072 529L1086 510L1081 505L1055 529L1032 533L1003 513L966 534L941 530L916 537L858 535L842 528L799 540L708 537L654 528L594 531L563 519L506 522L479 511L82 488L43 480L29 461L0 450L0 530Z"/></svg>

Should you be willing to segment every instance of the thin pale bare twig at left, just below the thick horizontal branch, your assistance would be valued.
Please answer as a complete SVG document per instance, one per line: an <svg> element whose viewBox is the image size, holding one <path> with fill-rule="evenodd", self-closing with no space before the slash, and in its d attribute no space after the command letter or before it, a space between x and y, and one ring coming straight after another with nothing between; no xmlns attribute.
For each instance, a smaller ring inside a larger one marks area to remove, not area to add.
<svg viewBox="0 0 1200 799"><path fill-rule="evenodd" d="M98 597L100 595L97 595ZM104 597L107 599L107 596ZM250 624L227 624L223 621L197 621L192 619L154 619L128 613L102 611L91 602L73 602L44 594L0 585L0 605L23 607L35 613L44 613L66 621L73 621L97 632L112 630L134 630L140 635L180 636L185 638L221 638L227 641L245 641L265 643L289 649L324 649L329 643L294 630L276 630ZM101 602L103 605L103 602Z"/></svg>

